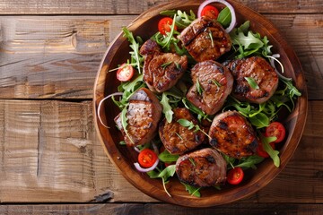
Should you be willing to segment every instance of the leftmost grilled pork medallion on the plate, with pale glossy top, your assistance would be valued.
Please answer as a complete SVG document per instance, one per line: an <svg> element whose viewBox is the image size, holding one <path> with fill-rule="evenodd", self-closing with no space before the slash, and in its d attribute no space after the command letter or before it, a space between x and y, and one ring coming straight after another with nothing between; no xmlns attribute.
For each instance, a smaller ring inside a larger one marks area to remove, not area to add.
<svg viewBox="0 0 323 215"><path fill-rule="evenodd" d="M136 90L127 107L127 133L121 124L121 114L115 117L118 129L128 146L150 142L157 132L162 117L162 106L152 91Z"/></svg>

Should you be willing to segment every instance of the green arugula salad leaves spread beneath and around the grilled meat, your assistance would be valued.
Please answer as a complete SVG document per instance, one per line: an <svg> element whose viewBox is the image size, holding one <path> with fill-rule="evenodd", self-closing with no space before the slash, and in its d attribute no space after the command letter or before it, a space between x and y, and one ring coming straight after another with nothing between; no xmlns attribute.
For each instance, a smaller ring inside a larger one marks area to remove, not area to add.
<svg viewBox="0 0 323 215"><path fill-rule="evenodd" d="M182 12L180 10L170 10L163 11L161 13L165 16L170 16L175 22L172 22L170 26L170 32L167 32L166 35L162 35L161 32L157 32L152 36L152 39L155 40L160 47L162 47L164 52L174 51L182 55L188 56L188 62L190 65L194 65L194 59L189 56L188 51L185 47L181 47L179 45L179 39L177 36L179 35L178 30L182 30L186 28L191 22L196 20L196 14L193 11ZM231 22L231 12L225 7L218 15L217 21L220 22L223 27L226 27ZM226 60L239 59L246 56L262 56L267 58L269 62L275 67L275 62L280 65L281 73L284 73L283 64L278 61L279 55L273 55L269 40L266 36L262 37L258 32L253 32L249 30L249 21L244 22L240 25L240 27L231 30L230 37L232 42L231 52L226 55L228 56ZM175 28L175 26L177 26ZM127 38L130 44L131 51L130 59L127 64L131 64L137 71L135 78L129 82L121 82L118 86L118 91L123 92L122 97L120 99L115 99L112 97L114 103L121 110L121 122L122 126L127 134L127 106L128 100L135 92L142 87L146 87L143 81L143 65L144 65L144 56L139 54L139 48L143 44L143 39L138 36L134 36L132 32L127 30L127 28L122 29L124 32L124 37ZM167 66L167 65L165 65ZM277 71L277 73L279 73ZM249 78L247 80L249 85L252 88L258 88L257 83ZM193 106L188 99L186 99L185 95L188 91L187 82L190 81L189 72L184 75L184 77L179 80L178 84L171 88L170 90L162 92L161 95L157 95L158 99L162 104L162 113L166 117L167 122L171 122L173 111L172 109L175 107L187 107L192 113L195 114L196 118L199 122L204 120L212 122L214 116L206 115L202 110ZM264 133L264 129L271 122L277 120L278 113L282 108L286 109L289 112L292 112L294 108L294 100L301 96L301 92L297 90L293 84L292 79L284 77L282 74L279 75L279 87L275 91L274 96L267 100L262 104L251 104L249 102L242 102L233 97L229 96L227 101L223 106L223 110L235 109L240 112L242 116L245 116L251 125L254 126L258 133L258 137L261 139L263 143L264 150L269 154L270 158L273 159L275 167L280 166L279 159L279 151L274 150L270 146L270 142L275 141L275 137L265 137L262 133ZM188 120L179 121L180 125L188 127L188 129L194 129L195 131L203 131L198 125L194 125ZM207 133L205 133L207 135ZM128 135L128 134L127 134ZM131 140L131 138L129 138ZM120 142L124 144L124 142ZM156 149L162 146L162 142L159 139L153 140L153 142L148 142L145 145L137 147L139 150L143 150L145 148ZM156 151L156 150L155 150ZM162 178L162 184L164 185L165 192L168 193L166 189L166 184L170 181L170 177L175 174L175 165L173 164L178 158L179 155L172 155L167 150L163 150L162 152L158 152L158 158L161 161L157 168L152 171L147 172L148 176L151 178ZM249 156L244 159L233 159L223 154L223 158L228 163L228 169L240 167L243 169L246 168L257 168L257 164L263 161L264 158L259 157L258 155ZM170 165L166 165L170 164ZM188 193L195 195L196 197L201 196L200 188L193 187L191 185L186 185L185 189ZM221 189L221 187L216 187L217 189ZM170 193L168 193L170 195Z"/></svg>

